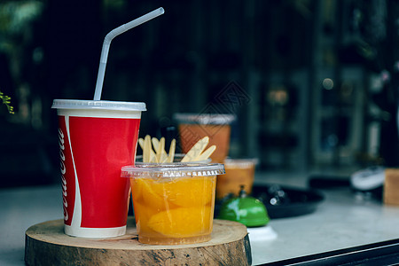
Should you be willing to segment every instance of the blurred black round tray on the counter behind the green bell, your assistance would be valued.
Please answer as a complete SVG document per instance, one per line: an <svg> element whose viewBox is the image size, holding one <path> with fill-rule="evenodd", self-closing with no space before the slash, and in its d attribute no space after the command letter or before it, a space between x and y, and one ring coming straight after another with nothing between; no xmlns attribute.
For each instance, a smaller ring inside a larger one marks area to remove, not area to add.
<svg viewBox="0 0 399 266"><path fill-rule="evenodd" d="M262 200L270 219L308 215L325 200L322 193L279 184L254 185L251 196Z"/></svg>

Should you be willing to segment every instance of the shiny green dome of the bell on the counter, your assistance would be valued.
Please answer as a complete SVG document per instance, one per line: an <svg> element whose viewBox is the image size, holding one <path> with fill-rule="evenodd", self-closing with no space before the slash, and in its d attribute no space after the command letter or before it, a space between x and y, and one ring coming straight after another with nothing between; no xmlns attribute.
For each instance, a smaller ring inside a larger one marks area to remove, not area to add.
<svg viewBox="0 0 399 266"><path fill-rule="evenodd" d="M262 201L247 196L244 190L238 198L223 202L218 218L243 223L246 227L263 226L270 221Z"/></svg>

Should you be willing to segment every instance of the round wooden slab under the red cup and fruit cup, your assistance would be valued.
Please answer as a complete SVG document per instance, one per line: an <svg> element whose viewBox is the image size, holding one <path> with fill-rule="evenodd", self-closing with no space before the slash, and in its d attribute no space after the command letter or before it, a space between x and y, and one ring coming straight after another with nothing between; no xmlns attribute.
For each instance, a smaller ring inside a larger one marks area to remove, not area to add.
<svg viewBox="0 0 399 266"><path fill-rule="evenodd" d="M251 265L246 226L215 220L212 239L198 244L158 246L137 241L134 218L125 235L110 239L67 236L63 220L26 231L27 265Z"/></svg>

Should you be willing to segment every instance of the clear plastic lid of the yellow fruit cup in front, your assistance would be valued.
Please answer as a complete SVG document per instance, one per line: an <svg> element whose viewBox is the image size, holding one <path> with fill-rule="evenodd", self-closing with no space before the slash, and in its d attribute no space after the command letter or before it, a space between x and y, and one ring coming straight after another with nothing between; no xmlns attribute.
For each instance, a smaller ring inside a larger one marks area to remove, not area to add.
<svg viewBox="0 0 399 266"><path fill-rule="evenodd" d="M143 163L121 168L122 177L216 176L224 173L222 163Z"/></svg>

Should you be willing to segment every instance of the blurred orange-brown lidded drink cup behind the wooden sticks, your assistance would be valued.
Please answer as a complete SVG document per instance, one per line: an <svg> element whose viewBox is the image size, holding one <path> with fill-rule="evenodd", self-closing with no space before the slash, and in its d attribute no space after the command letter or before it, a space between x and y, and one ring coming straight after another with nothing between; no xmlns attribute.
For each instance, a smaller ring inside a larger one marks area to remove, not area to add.
<svg viewBox="0 0 399 266"><path fill-rule="evenodd" d="M216 145L210 158L223 163L229 154L231 122L235 119L228 113L175 113L183 153L188 153L202 137L209 137L209 145Z"/></svg>

